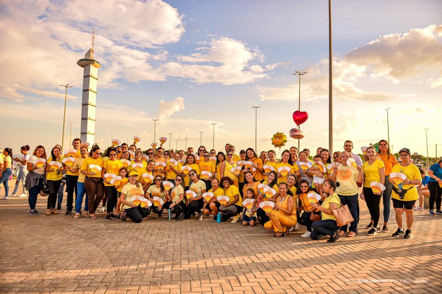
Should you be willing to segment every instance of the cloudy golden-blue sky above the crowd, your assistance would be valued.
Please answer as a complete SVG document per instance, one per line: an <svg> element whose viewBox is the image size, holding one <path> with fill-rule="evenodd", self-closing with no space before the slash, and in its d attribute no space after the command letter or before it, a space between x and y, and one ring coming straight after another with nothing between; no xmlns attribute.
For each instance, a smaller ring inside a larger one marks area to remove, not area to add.
<svg viewBox="0 0 442 294"><path fill-rule="evenodd" d="M442 2L334 1L334 150L387 139L442 154ZM323 1L6 1L0 0L0 148L80 134L83 69L91 46L98 71L95 141L147 149L274 149L272 134L296 127L301 78L301 149L328 147L328 2ZM172 133L172 135L169 135ZM170 137L171 136L171 137ZM93 143L93 142L90 142ZM169 142L164 146L169 148ZM285 147L281 148L284 149ZM65 148L66 149L66 148ZM277 150L279 151L279 150Z"/></svg>

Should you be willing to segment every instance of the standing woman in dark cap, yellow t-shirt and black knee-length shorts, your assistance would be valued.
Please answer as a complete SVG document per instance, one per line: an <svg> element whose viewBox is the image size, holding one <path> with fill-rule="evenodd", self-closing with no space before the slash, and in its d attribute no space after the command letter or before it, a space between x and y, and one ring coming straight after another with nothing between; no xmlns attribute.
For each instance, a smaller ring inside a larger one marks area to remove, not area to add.
<svg viewBox="0 0 442 294"><path fill-rule="evenodd" d="M397 231L393 234L393 237L399 237L403 234L403 212L405 211L407 220L407 230L403 238L410 239L413 238L413 233L411 232L411 227L414 222L413 207L416 200L419 199L419 194L417 192L417 185L422 183L422 178L420 177L420 172L417 166L410 163L411 152L408 148L402 148L399 151L399 156L401 159L400 164L393 166L391 172L400 172L406 175L407 179L404 180L399 185L390 178L390 183L393 184L392 200L393 208L396 213Z"/></svg>

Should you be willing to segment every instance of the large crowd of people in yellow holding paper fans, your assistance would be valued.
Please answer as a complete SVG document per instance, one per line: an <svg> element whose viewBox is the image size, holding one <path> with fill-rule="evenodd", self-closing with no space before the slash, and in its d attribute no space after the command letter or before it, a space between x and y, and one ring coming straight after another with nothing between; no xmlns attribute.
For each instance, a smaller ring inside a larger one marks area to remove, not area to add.
<svg viewBox="0 0 442 294"><path fill-rule="evenodd" d="M36 146L32 154L28 154L29 146L23 146L22 158L13 158L12 150L5 148L0 156L0 184L5 186L2 199L6 200L11 164L17 162L20 170L11 196L22 183L21 196L28 197L30 215L40 214L35 205L44 187L48 191L45 214L58 214L64 181L65 214L75 210L73 219L97 220L100 205L101 209L106 207L106 221L140 223L151 213L161 218L163 212L176 221L193 216L200 221L204 215L213 215L214 222L262 224L273 231L274 238L304 225L302 237L318 240L329 236L327 242L359 233L362 201L371 216L366 233L388 232L393 203L398 227L393 236L412 238L413 210L421 209L421 205L415 207L419 191L428 189L430 193L430 214L442 214L442 160L432 165L426 176L411 162L408 148L399 151L398 161L386 140L379 141L378 146L378 150L364 148L363 159L352 152L349 140L344 143L344 151L333 154L324 148L310 154L308 149L291 147L277 160L274 150L258 155L247 148L237 154L231 144L219 152L204 146L195 151L192 147L165 150L162 145L143 151L136 142L102 150L96 144L89 146L75 139L71 149L62 150L56 145L50 154L42 145ZM338 213L345 210L348 221L341 223Z"/></svg>

